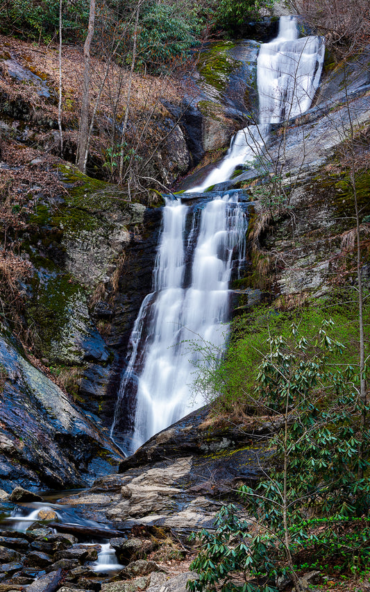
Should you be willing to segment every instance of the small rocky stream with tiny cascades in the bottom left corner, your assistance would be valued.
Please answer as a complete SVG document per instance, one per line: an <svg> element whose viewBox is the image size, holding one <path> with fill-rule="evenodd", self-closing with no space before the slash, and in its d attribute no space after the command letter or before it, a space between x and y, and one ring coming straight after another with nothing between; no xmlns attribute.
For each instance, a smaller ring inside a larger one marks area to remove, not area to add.
<svg viewBox="0 0 370 592"><path fill-rule="evenodd" d="M42 502L6 502L0 514L0 582L28 586L55 570L72 569L92 591L124 568L110 544L109 525L83 518L65 504L71 491ZM76 493L76 492L74 492ZM106 534L105 531L106 530ZM72 534L73 533L73 534ZM122 533L117 543L126 536ZM1 551L2 550L2 551ZM4 564L3 561L6 561ZM92 577L96 575L96 577ZM89 578L91 581L89 581Z"/></svg>

